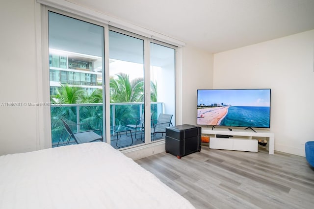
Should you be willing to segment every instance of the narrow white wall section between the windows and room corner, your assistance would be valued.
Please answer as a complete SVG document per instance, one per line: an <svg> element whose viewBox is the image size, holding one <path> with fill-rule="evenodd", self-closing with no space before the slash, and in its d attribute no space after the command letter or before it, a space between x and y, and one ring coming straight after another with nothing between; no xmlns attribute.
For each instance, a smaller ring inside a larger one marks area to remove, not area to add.
<svg viewBox="0 0 314 209"><path fill-rule="evenodd" d="M182 124L196 125L197 90L213 85L213 54L187 44L182 63Z"/></svg>

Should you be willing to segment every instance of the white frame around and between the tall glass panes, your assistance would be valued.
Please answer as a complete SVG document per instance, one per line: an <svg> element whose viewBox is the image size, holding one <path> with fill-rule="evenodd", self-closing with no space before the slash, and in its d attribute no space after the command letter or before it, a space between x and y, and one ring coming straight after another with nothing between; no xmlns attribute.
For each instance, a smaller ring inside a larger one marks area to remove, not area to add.
<svg viewBox="0 0 314 209"><path fill-rule="evenodd" d="M50 1L50 0L48 0ZM41 2L41 0L37 0L37 2ZM57 6L58 7L58 6ZM78 19L80 21L84 21L87 23L93 23L93 24L97 24L100 25L102 27L104 27L104 46L105 46L105 59L103 62L104 63L104 73L103 73L103 80L105 81L105 85L103 87L103 98L104 98L104 102L103 102L103 110L105 111L105 117L103 118L103 124L104 124L104 130L105 130L105 138L106 138L106 142L110 144L110 122L106 122L106 121L110 121L110 98L109 98L109 86L106 87L106 84L109 84L109 30L115 31L115 32L119 32L125 35L130 35L132 37L135 38L139 38L139 39L143 39L144 40L144 79L147 81L150 81L150 43L154 43L154 44L159 44L161 46L166 46L166 47L170 47L175 49L175 122L180 123L180 121L182 121L182 116L179 116L178 113L181 112L182 110L182 104L181 102L178 102L178 99L181 100L182 95L181 95L181 88L178 88L178 84L179 87L181 87L181 68L182 65L181 63L178 65L178 62L180 62L180 60L182 59L182 52L183 52L183 47L182 46L176 46L173 45L172 42L170 41L170 43L166 43L164 42L162 39L161 41L158 40L156 37L150 36L148 37L148 35L141 35L141 34L137 34L134 33L134 31L129 31L129 30L125 30L122 28L118 28L116 26L112 26L107 24L105 21L97 21L94 20L93 18L90 17L86 17L85 13L82 13L82 15L78 15L76 12L72 13L69 12L67 9L59 9L56 7L51 7L51 6L46 6L44 4L41 5L41 28L42 28L42 56L41 56L41 60L42 60L42 76L43 76L43 98L46 101L50 101L50 70L49 70L49 37L48 37L48 12L52 11L64 16L68 16L70 18L75 18ZM128 28L129 29L129 28ZM135 31L138 31L135 29ZM142 32L140 32L142 33ZM185 45L183 43L183 45ZM47 70L48 69L48 70ZM145 93L145 113L150 113L151 112L151 108L150 108L150 82L145 82L144 84L144 93ZM107 96L106 96L107 95ZM180 104L180 105L179 105ZM43 112L43 116L44 117L51 117L51 112L50 112L50 108L47 108L44 110ZM150 118L148 118L150 116L150 114L145 114L145 126L146 127L150 127ZM52 147L52 136L51 136L51 121L46 121L44 123L44 127L45 127L45 139L44 139L44 144L47 147ZM144 144L151 144L154 143L151 141L151 135L150 135L151 131L150 128L145 132L145 143ZM163 139L164 140L164 139ZM119 150L124 150L124 149L130 149L136 146L143 146L143 144L139 144L139 145L134 145L131 147L125 147L125 148L121 148Z"/></svg>

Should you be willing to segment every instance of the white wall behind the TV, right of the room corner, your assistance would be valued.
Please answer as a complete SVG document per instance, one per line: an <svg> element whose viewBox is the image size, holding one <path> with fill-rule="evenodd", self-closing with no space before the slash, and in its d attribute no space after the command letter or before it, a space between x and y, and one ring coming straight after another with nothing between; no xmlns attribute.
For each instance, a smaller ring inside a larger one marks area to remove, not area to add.
<svg viewBox="0 0 314 209"><path fill-rule="evenodd" d="M215 89L271 88L275 150L314 140L314 30L214 54Z"/></svg>

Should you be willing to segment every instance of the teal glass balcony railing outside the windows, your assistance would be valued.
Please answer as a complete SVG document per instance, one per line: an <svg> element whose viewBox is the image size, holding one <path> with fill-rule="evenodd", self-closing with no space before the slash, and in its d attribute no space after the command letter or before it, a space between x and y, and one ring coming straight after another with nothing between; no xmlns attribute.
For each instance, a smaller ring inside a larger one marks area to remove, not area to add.
<svg viewBox="0 0 314 209"><path fill-rule="evenodd" d="M110 103L110 126L126 125L127 119L132 117L141 117L144 110L144 103ZM156 120L160 113L164 111L163 102L152 102L151 112L152 120ZM51 107L52 121L52 146L58 143L63 124L60 118L72 121L73 123L88 123L92 129L104 130L103 104L62 104ZM79 130L79 126L77 127ZM112 133L111 133L112 135Z"/></svg>

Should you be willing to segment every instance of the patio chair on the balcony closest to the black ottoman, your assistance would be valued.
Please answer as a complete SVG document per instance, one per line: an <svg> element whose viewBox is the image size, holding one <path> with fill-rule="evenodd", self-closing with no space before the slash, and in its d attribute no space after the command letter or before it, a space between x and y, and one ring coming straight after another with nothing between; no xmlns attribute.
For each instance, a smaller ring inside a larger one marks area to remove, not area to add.
<svg viewBox="0 0 314 209"><path fill-rule="evenodd" d="M153 140L156 139L157 133L161 133L162 138L163 134L166 133L166 128L169 127L170 125L172 126L171 123L172 116L173 115L160 113L158 119L153 121L153 127L151 127L151 134ZM142 126L141 130L142 130L141 139L143 140L144 126Z"/></svg>

